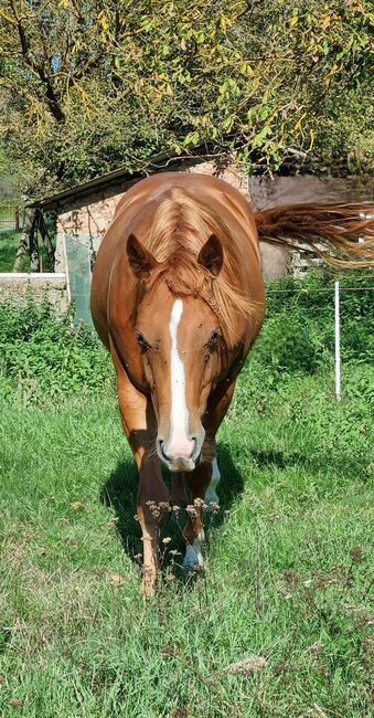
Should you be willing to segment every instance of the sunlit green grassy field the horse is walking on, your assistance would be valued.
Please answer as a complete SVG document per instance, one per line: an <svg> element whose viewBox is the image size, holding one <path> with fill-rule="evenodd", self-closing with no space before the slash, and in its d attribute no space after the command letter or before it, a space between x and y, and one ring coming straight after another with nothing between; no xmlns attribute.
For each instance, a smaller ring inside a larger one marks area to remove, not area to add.
<svg viewBox="0 0 374 718"><path fill-rule="evenodd" d="M310 371L265 367L275 316L220 432L207 571L184 576L171 520L164 584L148 603L111 389L38 399L29 366L10 393L4 353L3 718L373 715L373 372L348 362L336 404L323 348Z"/></svg>

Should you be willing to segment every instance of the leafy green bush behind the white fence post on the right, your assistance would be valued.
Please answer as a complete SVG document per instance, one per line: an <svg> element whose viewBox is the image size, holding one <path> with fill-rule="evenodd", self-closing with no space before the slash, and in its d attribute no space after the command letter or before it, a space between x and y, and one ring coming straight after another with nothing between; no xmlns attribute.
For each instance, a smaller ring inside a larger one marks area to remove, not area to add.
<svg viewBox="0 0 374 718"><path fill-rule="evenodd" d="M268 285L267 321L258 342L263 356L271 349L271 344L276 345L274 359L267 360L267 366L311 373L333 356L335 278L338 276L330 271L321 268L308 272L302 281L287 277ZM350 271L340 274L339 279L342 361L371 362L374 352L374 272ZM268 334L271 331L274 341ZM264 352L261 342L267 345Z"/></svg>

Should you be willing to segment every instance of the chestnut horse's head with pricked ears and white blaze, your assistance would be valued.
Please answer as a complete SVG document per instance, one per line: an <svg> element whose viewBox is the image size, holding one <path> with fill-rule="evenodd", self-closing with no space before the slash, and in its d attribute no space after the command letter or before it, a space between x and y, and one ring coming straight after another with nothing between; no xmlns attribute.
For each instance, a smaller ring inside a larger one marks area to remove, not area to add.
<svg viewBox="0 0 374 718"><path fill-rule="evenodd" d="M197 289L173 287L173 270L183 271L183 256L160 263L133 234L127 256L141 287L133 331L158 424L157 453L170 471L191 472L202 455L207 399L222 373L220 321ZM197 283L199 273L214 282L223 261L222 244L212 234L196 256Z"/></svg>

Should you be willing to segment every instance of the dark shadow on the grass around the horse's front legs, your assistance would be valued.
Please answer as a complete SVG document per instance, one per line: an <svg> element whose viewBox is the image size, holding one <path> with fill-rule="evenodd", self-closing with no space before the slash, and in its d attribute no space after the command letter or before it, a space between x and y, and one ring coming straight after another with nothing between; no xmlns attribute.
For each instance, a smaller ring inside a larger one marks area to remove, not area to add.
<svg viewBox="0 0 374 718"><path fill-rule="evenodd" d="M217 461L221 471L221 482L217 493L220 497L220 511L212 517L207 515L206 525L214 529L220 528L224 520L225 511L228 511L234 501L243 493L243 476L235 467L229 446L220 444L217 446ZM165 483L170 484L170 477L164 475ZM100 492L100 500L105 506L110 506L115 510L118 522L116 525L122 547L126 553L133 560L133 557L142 551L140 540L141 532L139 524L135 518L137 507L138 492L138 472L136 464L130 460L119 462L117 468L110 474ZM172 516L165 524L162 536L170 537L168 550L162 557L162 564L168 566L170 562L170 549L177 549L183 555L184 542L182 529L185 522L184 511L180 513L179 519ZM162 552L162 548L161 548Z"/></svg>

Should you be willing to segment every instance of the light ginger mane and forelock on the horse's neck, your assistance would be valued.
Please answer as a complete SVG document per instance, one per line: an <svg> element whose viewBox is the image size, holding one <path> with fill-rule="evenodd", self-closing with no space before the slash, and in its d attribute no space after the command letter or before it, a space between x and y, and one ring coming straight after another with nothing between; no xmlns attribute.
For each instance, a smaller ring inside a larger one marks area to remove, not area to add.
<svg viewBox="0 0 374 718"><path fill-rule="evenodd" d="M215 277L197 262L201 247L215 234L223 247L224 262ZM239 340L236 319L253 319L256 304L241 286L236 241L224 222L204 202L175 187L158 207L145 245L159 266L136 286L136 305L145 293L164 282L177 297L200 297L217 316L223 339L232 349Z"/></svg>

